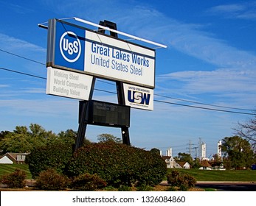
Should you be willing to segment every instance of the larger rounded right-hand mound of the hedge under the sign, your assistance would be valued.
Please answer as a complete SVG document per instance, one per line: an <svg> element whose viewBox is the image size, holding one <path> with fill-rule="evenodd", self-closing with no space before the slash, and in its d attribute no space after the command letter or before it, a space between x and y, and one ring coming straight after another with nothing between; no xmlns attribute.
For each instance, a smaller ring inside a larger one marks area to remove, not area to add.
<svg viewBox="0 0 256 206"><path fill-rule="evenodd" d="M167 168L162 157L153 152L121 143L91 143L77 149L69 161L67 174L98 174L108 185L119 188L137 182L157 185L165 177Z"/></svg>

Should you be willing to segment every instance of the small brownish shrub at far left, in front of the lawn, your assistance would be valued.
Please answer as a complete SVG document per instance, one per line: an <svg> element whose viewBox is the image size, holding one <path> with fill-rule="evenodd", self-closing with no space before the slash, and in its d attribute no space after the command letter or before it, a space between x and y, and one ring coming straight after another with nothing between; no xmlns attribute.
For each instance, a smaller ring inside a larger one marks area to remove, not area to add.
<svg viewBox="0 0 256 206"><path fill-rule="evenodd" d="M1 176L1 183L9 188L24 188L26 185L26 172L16 168L13 173Z"/></svg>

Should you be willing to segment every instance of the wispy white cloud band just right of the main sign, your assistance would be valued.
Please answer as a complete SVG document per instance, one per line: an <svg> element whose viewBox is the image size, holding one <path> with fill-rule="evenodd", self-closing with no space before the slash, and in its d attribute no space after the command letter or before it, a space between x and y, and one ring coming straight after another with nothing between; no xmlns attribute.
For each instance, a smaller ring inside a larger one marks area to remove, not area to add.
<svg viewBox="0 0 256 206"><path fill-rule="evenodd" d="M198 93L255 93L256 71L234 71L222 69L215 71L180 71L159 75L157 81L167 88L173 88L173 82L179 82L179 90L188 94ZM247 95L249 96L249 95Z"/></svg>

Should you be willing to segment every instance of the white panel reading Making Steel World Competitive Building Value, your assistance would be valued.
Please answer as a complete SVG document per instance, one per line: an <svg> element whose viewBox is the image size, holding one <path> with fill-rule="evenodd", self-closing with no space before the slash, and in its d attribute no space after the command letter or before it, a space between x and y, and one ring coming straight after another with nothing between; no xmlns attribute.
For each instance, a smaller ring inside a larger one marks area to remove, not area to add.
<svg viewBox="0 0 256 206"><path fill-rule="evenodd" d="M89 100L92 77L73 71L47 68L46 93Z"/></svg>

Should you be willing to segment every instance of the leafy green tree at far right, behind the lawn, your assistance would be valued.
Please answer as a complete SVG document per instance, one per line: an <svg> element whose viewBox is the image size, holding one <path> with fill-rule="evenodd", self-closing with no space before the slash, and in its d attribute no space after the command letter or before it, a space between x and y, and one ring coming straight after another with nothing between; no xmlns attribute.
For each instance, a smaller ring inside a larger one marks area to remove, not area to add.
<svg viewBox="0 0 256 206"><path fill-rule="evenodd" d="M222 142L226 168L249 168L252 166L255 156L249 141L239 136L233 136L224 138Z"/></svg>

